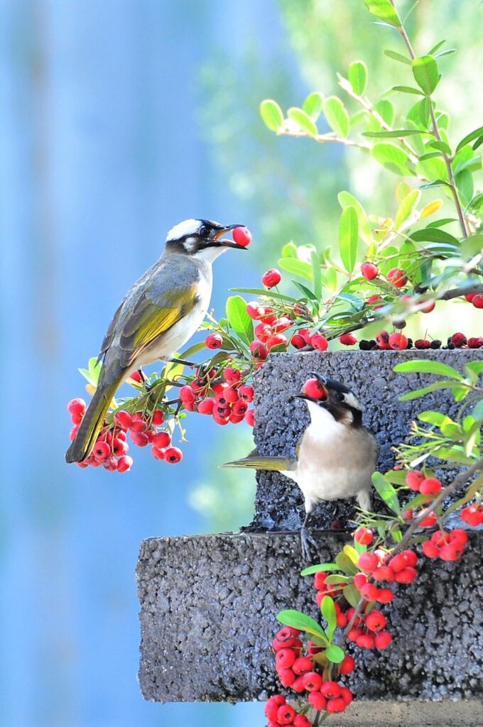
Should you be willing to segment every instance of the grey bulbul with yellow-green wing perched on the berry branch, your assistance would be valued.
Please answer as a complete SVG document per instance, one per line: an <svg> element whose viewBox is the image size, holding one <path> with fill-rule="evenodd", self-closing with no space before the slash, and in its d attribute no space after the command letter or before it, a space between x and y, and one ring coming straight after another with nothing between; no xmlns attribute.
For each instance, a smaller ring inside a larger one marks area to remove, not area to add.
<svg viewBox="0 0 483 727"><path fill-rule="evenodd" d="M227 249L246 249L223 239L238 227L243 225L184 220L169 230L163 254L129 289L109 324L100 347L99 383L66 462L89 457L121 382L140 366L172 361L196 332L212 294L212 262Z"/></svg>

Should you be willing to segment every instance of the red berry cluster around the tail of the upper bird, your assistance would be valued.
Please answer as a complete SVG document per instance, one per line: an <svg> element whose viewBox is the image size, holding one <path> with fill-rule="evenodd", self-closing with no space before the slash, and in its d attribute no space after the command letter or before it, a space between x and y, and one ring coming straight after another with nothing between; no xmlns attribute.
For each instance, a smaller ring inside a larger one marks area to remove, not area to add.
<svg viewBox="0 0 483 727"><path fill-rule="evenodd" d="M87 405L84 399L78 398L69 401L67 408L74 425L70 433L70 439L73 441ZM155 409L152 414L143 414L141 411L129 414L129 411L119 409L114 414L113 425L106 419L104 420L92 453L83 462L77 462L77 465L83 468L104 467L109 472L127 472L133 465L132 457L127 454L129 451L128 432L133 444L138 447L152 444L153 457L164 459L170 465L177 465L183 459L183 452L179 447L171 445L171 435L168 432L156 429L161 425L163 419L164 414L160 409Z"/></svg>

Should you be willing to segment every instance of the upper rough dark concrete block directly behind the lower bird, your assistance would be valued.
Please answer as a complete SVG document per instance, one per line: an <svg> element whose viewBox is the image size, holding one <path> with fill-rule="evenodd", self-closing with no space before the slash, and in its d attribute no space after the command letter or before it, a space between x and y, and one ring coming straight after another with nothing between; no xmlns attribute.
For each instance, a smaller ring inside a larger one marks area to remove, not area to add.
<svg viewBox="0 0 483 727"><path fill-rule="evenodd" d="M335 353L279 353L271 356L257 374L255 385L255 443L260 454L289 454L308 423L303 401L289 401L310 371L339 379L354 390L364 409L364 425L378 440L379 468L394 464L391 447L405 441L418 411L436 409L450 416L458 411L452 396L436 391L415 401L398 401L399 395L437 380L431 374L395 374L393 367L408 359L429 358L463 370L467 361L482 358L479 350L337 351ZM341 455L342 456L342 455ZM323 466L323 463L321 463ZM299 529L305 515L298 486L279 473L260 472L255 500L255 519L250 530ZM378 498L373 497L375 510ZM335 511L337 505L337 512ZM311 525L325 529L334 518L354 516L354 501L320 503Z"/></svg>

